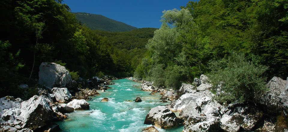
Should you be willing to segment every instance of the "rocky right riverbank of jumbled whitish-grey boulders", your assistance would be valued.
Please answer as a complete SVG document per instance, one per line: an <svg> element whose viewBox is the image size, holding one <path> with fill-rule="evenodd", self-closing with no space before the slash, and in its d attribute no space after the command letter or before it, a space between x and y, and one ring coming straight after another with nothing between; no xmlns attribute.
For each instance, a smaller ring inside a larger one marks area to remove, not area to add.
<svg viewBox="0 0 288 132"><path fill-rule="evenodd" d="M144 124L164 129L183 125L185 132L288 131L288 81L273 77L266 85L267 92L241 104L218 103L214 96L221 91L212 93L208 82L208 77L201 75L192 85L182 84L175 92L143 81L142 90L163 92L163 97L175 99L166 106L152 108Z"/></svg>

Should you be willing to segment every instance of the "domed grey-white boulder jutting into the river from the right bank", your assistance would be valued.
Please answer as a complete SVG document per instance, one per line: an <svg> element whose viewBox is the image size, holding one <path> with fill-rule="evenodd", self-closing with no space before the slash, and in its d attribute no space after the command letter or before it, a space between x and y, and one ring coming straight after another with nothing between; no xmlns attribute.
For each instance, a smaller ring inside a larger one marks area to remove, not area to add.
<svg viewBox="0 0 288 132"><path fill-rule="evenodd" d="M176 115L165 106L152 108L147 114L144 124L155 125L160 128L173 128L177 124Z"/></svg>

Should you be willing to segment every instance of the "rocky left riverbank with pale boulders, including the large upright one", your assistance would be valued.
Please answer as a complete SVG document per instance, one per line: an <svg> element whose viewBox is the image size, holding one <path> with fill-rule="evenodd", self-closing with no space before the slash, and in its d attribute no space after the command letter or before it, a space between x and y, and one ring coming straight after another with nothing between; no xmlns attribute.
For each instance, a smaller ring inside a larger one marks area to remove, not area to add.
<svg viewBox="0 0 288 132"><path fill-rule="evenodd" d="M99 95L112 84L110 76L73 81L65 67L43 62L39 67L38 95L27 101L6 96L0 98L0 131L33 132L56 131L59 125L51 123L67 118L65 113L89 110L88 96ZM28 87L26 84L19 87ZM67 103L67 104L66 104Z"/></svg>

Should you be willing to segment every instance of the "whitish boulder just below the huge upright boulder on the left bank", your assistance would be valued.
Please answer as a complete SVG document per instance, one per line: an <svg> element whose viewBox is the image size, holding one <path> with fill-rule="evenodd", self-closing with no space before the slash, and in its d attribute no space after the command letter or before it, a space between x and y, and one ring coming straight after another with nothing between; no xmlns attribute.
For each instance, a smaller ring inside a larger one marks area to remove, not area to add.
<svg viewBox="0 0 288 132"><path fill-rule="evenodd" d="M68 88L53 88L52 93L58 103L67 103L71 100Z"/></svg>

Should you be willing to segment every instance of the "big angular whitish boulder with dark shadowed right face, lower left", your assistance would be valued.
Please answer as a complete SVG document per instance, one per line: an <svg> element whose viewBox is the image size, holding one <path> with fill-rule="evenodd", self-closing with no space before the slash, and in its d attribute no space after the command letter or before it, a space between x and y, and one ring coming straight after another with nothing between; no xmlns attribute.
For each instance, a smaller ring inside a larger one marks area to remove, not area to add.
<svg viewBox="0 0 288 132"><path fill-rule="evenodd" d="M52 119L53 110L44 96L34 95L29 100L23 101L21 106L23 128L35 130L47 125Z"/></svg>

